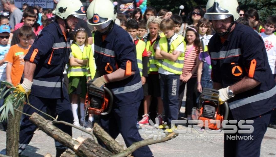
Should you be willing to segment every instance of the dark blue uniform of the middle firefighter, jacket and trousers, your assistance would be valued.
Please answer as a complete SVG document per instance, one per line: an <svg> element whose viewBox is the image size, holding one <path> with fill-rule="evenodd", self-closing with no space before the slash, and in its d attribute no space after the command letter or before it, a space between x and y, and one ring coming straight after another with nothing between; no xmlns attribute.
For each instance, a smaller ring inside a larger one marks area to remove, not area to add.
<svg viewBox="0 0 276 157"><path fill-rule="evenodd" d="M94 41L96 75L102 76L118 68L135 71L134 75L124 80L106 84L114 94L113 109L110 114L100 116L100 125L104 130L114 139L121 133L126 146L129 147L132 143L143 140L136 127L143 89L136 62L135 45L130 35L116 24L106 36L100 35L97 31ZM152 153L149 147L145 146L135 150L133 155L152 156Z"/></svg>

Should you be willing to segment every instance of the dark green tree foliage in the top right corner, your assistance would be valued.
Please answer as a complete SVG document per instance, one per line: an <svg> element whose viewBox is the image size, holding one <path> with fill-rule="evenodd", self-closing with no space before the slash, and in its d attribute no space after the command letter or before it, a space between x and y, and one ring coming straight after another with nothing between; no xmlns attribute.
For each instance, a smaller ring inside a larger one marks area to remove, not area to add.
<svg viewBox="0 0 276 157"><path fill-rule="evenodd" d="M276 0L238 0L240 8L247 11L256 9L261 21L265 22L270 15L276 15Z"/></svg>

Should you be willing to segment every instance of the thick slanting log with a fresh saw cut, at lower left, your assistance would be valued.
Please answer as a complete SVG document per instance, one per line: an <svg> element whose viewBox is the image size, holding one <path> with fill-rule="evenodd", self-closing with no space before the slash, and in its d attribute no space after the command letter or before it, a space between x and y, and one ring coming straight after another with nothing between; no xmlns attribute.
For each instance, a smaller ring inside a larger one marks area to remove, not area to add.
<svg viewBox="0 0 276 157"><path fill-rule="evenodd" d="M74 139L67 133L64 133L61 129L54 126L51 122L47 121L45 118L37 113L33 113L30 116L30 121L37 125L40 130L45 132L50 137L56 139L58 142L62 143L64 146L75 151L78 156L111 156L113 155L107 149L104 149L101 145L95 143L91 138ZM89 141L89 142L87 142ZM84 150L87 149L87 150Z"/></svg>

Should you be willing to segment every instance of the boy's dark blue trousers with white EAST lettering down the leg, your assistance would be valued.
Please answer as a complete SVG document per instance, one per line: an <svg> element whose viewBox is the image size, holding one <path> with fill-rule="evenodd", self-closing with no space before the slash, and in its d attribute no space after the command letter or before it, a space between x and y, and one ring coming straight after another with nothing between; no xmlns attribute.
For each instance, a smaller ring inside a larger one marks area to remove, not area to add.
<svg viewBox="0 0 276 157"><path fill-rule="evenodd" d="M164 75L159 74L160 91L163 101L165 117L164 121L171 125L172 120L178 119L179 103L179 75Z"/></svg>

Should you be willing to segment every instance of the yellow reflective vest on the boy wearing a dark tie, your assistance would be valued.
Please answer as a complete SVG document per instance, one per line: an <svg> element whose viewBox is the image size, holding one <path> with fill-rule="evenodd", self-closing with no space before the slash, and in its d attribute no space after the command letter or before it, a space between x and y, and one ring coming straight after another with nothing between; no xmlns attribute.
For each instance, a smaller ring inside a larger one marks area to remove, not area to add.
<svg viewBox="0 0 276 157"><path fill-rule="evenodd" d="M172 41L171 49L169 52L168 52L167 38L162 37L159 41L160 50L163 50L168 53L172 53L177 48L177 46L180 45L182 42L184 43L183 52L179 55L179 57L175 62L170 61L168 59L163 59L156 62L157 66L160 66L161 68L163 68L164 70L170 73L174 73L177 75L182 74L182 68L183 68L184 58L185 58L184 52L186 48L186 42L184 41L184 37L181 35L178 35L178 37L174 41Z"/></svg>

